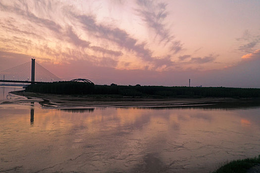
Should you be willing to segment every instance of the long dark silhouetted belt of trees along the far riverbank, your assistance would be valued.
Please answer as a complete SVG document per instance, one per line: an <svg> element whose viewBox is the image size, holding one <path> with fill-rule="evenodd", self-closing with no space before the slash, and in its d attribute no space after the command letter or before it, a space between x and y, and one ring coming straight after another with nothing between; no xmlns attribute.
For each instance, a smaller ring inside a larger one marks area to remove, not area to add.
<svg viewBox="0 0 260 173"><path fill-rule="evenodd" d="M162 97L260 97L259 88L234 87L163 87L163 86L119 86L115 84L94 85L81 82L55 82L35 84L25 91L52 94L116 94L123 96Z"/></svg>

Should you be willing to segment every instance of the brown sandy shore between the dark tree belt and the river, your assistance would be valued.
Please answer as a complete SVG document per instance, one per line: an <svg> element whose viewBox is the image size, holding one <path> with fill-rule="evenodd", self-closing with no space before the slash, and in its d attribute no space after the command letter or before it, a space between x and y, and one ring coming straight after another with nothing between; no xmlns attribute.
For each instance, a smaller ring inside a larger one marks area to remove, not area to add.
<svg viewBox="0 0 260 173"><path fill-rule="evenodd" d="M43 106L49 107L172 107L172 106L197 106L209 105L219 102L234 102L233 98L107 98L92 95L60 95L42 94L33 92L11 92L28 101L40 102Z"/></svg>

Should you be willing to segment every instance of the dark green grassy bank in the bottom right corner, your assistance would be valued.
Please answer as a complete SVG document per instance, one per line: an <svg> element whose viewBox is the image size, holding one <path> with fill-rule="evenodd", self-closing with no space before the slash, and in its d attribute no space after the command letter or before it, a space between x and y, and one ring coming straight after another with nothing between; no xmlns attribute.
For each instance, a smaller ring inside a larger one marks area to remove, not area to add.
<svg viewBox="0 0 260 173"><path fill-rule="evenodd" d="M260 155L255 158L229 162L213 173L246 173L251 167L257 164L260 164Z"/></svg>

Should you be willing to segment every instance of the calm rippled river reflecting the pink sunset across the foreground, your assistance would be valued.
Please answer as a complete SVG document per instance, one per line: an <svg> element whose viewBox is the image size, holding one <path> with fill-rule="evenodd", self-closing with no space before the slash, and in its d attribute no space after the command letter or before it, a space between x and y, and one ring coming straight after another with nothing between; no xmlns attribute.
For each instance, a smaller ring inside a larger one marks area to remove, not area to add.
<svg viewBox="0 0 260 173"><path fill-rule="evenodd" d="M0 172L209 173L260 153L260 107L0 105Z"/></svg>

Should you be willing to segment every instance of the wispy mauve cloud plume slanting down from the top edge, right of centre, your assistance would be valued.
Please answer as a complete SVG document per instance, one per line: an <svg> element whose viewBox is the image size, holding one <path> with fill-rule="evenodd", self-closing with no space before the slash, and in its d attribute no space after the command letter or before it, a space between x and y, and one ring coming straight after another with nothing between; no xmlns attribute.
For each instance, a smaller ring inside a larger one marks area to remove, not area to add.
<svg viewBox="0 0 260 173"><path fill-rule="evenodd" d="M164 19L168 15L167 4L156 0L137 0L136 2L140 6L136 11L147 26L155 31L156 37L160 38L159 41L170 44L169 50L173 53L179 52L182 49L182 44L180 41L174 41L175 37L170 34L170 29L164 24Z"/></svg>

